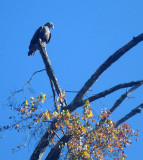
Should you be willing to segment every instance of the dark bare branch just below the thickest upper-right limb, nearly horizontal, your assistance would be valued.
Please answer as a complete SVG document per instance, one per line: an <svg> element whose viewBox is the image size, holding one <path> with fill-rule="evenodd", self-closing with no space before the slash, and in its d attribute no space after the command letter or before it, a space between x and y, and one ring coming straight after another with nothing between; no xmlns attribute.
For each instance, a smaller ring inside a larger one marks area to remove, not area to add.
<svg viewBox="0 0 143 160"><path fill-rule="evenodd" d="M90 102L93 102L99 98L102 98L102 97L105 97L107 95L109 95L110 93L113 93L119 89L123 89L123 88L127 88L127 87L132 87L134 85L138 85L138 84L142 84L143 83L143 80L140 80L140 81L132 81L132 82L128 82L128 83L122 83L122 84L118 84L112 88L109 88L105 91L102 91L94 96L91 96L89 98L87 98ZM85 100L82 100L82 101L79 101L75 104L71 103L70 105L68 105L68 110L70 112L74 111L75 109L77 109L78 107L80 106L83 106L85 104L85 102L87 101L87 99Z"/></svg>

